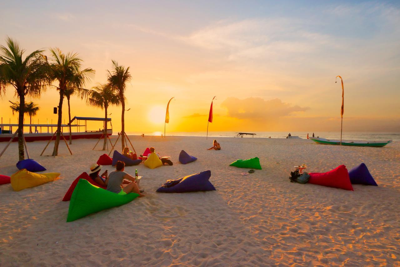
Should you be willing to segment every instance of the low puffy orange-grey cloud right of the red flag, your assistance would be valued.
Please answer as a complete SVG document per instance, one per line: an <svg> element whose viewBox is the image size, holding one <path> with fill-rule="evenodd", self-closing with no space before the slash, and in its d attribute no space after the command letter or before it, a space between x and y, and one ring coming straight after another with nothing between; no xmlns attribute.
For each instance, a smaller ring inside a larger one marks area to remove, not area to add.
<svg viewBox="0 0 400 267"><path fill-rule="evenodd" d="M221 103L228 110L228 116L238 119L271 120L305 111L308 107L293 106L280 99L264 100L259 97L239 99L228 97Z"/></svg>

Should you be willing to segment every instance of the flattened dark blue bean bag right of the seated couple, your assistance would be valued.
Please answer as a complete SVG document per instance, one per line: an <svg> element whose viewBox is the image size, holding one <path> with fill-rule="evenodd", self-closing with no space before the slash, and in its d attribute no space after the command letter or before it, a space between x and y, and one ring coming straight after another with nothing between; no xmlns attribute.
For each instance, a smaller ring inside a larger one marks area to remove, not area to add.
<svg viewBox="0 0 400 267"><path fill-rule="evenodd" d="M178 180L167 181L162 187L157 189L158 193L186 193L196 191L215 191L214 185L208 181L211 171L202 171L182 177Z"/></svg>

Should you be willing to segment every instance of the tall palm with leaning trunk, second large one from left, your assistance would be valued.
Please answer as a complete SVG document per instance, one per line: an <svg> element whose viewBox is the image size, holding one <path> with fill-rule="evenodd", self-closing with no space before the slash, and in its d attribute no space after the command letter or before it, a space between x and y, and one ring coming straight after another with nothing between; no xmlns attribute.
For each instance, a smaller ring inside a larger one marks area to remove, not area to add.
<svg viewBox="0 0 400 267"><path fill-rule="evenodd" d="M53 156L58 155L58 144L60 143L61 122L62 122L62 102L64 100L65 89L67 86L72 88L82 88L82 86L94 77L94 70L85 68L81 70L82 59L78 54L69 52L64 54L60 49L50 49L53 63L50 64L50 77L58 81L57 90L60 93L58 103L58 122L57 135L54 144Z"/></svg>

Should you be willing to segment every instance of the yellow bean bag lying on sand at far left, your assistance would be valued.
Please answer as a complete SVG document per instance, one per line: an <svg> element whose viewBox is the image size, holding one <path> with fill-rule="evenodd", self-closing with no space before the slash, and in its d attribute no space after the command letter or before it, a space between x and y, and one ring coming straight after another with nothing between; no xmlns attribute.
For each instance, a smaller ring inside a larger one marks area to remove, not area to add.
<svg viewBox="0 0 400 267"><path fill-rule="evenodd" d="M60 173L31 173L26 169L17 171L11 175L11 186L14 191L21 191L29 187L36 187L54 181Z"/></svg>

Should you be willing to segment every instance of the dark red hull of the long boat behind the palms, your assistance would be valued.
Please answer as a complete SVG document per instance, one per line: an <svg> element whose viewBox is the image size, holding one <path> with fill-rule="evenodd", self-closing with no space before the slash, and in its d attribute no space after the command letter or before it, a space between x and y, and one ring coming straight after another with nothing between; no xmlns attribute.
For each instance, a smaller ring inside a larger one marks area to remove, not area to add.
<svg viewBox="0 0 400 267"><path fill-rule="evenodd" d="M107 130L108 135L112 135L112 129ZM26 142L33 142L33 141L46 141L50 140L54 133L32 133L28 134L25 133L25 141ZM99 139L102 136L102 131L93 131L93 132L72 132L72 139ZM0 142L8 142L12 138L13 134L1 134L0 135ZM64 137L66 140L70 140L69 133L64 133ZM55 137L53 138L53 140ZM18 136L14 137L12 142L17 142Z"/></svg>

